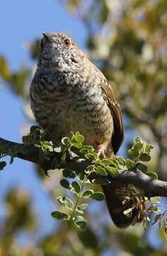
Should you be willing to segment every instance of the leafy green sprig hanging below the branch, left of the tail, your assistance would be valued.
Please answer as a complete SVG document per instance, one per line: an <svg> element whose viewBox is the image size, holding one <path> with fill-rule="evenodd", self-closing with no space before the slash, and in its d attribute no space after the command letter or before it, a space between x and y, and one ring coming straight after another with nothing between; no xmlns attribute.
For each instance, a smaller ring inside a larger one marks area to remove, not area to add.
<svg viewBox="0 0 167 256"><path fill-rule="evenodd" d="M74 203L67 196L58 196L57 201L69 210L69 213L64 213L60 210L54 210L51 215L56 220L70 220L79 228L86 228L86 220L82 216L86 208L87 203L80 203L84 198L93 199L96 201L102 201L104 194L102 192L94 192L93 189L84 190L84 184L88 182L88 175L90 172L85 174L75 174L74 171L66 170L63 171L64 178L60 181L60 185L63 188L68 189L71 193L76 196L76 202ZM74 180L69 182L67 178L73 178Z"/></svg>

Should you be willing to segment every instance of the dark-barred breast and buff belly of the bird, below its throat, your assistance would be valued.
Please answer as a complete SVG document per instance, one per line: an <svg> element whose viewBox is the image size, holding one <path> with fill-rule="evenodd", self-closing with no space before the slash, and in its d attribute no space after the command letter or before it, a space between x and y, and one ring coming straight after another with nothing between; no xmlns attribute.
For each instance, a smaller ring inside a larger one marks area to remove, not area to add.
<svg viewBox="0 0 167 256"><path fill-rule="evenodd" d="M30 100L35 119L54 141L69 136L69 132L84 135L84 144L103 144L107 156L112 151L113 117L101 87L80 83L67 86L47 75L35 75L30 85Z"/></svg>

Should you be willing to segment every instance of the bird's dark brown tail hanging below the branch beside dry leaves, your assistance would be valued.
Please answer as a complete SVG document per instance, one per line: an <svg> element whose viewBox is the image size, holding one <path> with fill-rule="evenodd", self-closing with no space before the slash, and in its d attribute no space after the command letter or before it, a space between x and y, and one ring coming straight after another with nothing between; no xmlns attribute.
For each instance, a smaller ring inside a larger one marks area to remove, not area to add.
<svg viewBox="0 0 167 256"><path fill-rule="evenodd" d="M132 200L129 200L126 203L123 202L124 199L119 193L119 191L123 189L122 184L113 182L110 185L102 187L113 223L115 223L118 228L126 228L131 225L134 220L134 216L137 215L137 209L134 208L132 210L132 215L130 217L127 217L127 215L124 214L124 211L132 206Z"/></svg>

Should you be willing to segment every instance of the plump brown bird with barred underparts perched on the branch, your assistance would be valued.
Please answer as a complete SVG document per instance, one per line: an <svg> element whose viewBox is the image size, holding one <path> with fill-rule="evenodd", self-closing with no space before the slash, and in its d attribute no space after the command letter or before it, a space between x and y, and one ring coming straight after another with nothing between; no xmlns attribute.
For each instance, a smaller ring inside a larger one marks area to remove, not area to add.
<svg viewBox="0 0 167 256"><path fill-rule="evenodd" d="M30 105L39 126L59 141L70 132L84 135L101 157L113 158L124 139L122 111L110 82L88 59L71 36L45 33L40 41L40 54L30 84ZM127 218L117 193L122 184L103 185L103 192L113 223L118 228L129 226L137 214ZM130 202L132 204L132 202Z"/></svg>

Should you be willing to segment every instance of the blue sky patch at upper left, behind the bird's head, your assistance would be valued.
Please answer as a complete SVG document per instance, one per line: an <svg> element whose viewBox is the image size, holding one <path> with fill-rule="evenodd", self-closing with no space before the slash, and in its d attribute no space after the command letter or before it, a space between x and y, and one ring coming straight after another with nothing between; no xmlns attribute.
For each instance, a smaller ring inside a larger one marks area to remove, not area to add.
<svg viewBox="0 0 167 256"><path fill-rule="evenodd" d="M41 36L42 31L69 33L84 47L84 24L70 16L59 0L6 0L0 2L1 41L0 53L8 58L11 68L18 68L22 61L28 63L26 41Z"/></svg>

